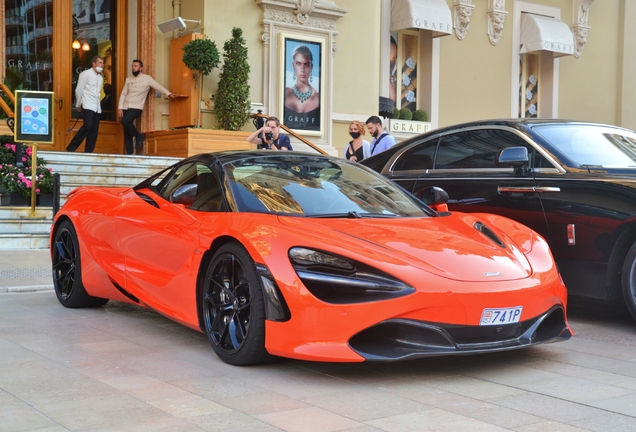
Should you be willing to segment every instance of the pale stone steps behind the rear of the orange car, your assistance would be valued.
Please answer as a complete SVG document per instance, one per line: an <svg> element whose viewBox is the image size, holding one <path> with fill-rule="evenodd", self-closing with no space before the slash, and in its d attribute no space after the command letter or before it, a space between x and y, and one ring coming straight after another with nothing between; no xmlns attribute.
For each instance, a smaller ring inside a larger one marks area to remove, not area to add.
<svg viewBox="0 0 636 432"><path fill-rule="evenodd" d="M80 186L134 186L180 158L38 152L60 174L60 206ZM51 207L0 207L0 249L46 249L53 219Z"/></svg>

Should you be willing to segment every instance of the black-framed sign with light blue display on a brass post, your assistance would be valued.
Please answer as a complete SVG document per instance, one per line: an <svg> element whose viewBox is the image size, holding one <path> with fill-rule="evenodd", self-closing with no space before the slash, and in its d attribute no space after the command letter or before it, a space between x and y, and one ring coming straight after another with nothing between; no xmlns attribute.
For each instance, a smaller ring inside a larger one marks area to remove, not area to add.
<svg viewBox="0 0 636 432"><path fill-rule="evenodd" d="M15 142L53 143L53 92L16 90Z"/></svg>

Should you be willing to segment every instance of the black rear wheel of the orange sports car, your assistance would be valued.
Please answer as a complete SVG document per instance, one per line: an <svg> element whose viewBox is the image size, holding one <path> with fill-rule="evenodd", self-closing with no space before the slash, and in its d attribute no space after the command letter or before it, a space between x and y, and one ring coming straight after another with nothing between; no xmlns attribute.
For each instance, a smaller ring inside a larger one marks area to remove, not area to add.
<svg viewBox="0 0 636 432"><path fill-rule="evenodd" d="M108 299L90 296L84 289L77 233L70 221L62 222L55 231L52 249L53 286L62 306L85 308L108 303Z"/></svg>

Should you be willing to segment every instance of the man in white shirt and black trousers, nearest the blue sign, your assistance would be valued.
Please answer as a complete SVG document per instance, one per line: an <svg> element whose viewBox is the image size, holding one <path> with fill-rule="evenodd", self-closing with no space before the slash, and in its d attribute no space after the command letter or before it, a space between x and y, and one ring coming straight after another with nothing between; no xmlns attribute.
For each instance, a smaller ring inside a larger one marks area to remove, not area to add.
<svg viewBox="0 0 636 432"><path fill-rule="evenodd" d="M101 92L104 84L102 71L104 70L104 59L98 56L93 57L93 67L86 69L79 75L77 87L75 88L75 106L82 114L84 124L77 131L66 151L75 151L86 138L84 153L93 153L99 132L99 119L102 108Z"/></svg>

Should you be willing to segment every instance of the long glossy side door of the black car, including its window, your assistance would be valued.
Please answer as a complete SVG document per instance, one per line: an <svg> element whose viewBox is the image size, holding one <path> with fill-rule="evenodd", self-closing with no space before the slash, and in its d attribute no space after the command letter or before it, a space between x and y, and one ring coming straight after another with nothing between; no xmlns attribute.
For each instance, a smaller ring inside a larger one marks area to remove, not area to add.
<svg viewBox="0 0 636 432"><path fill-rule="evenodd" d="M438 186L448 192L451 211L499 214L549 236L541 193L536 189L531 170L519 175L513 168L495 165L498 153L507 147L526 147L531 164L541 157L519 132L498 126L475 127L444 134L436 144L432 167L411 170L411 177L417 175L414 193L427 186ZM411 148L396 159L393 166L398 182L400 170L422 154L431 154L430 142L422 146L425 149Z"/></svg>

